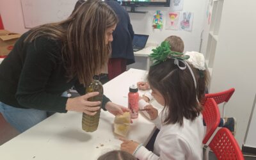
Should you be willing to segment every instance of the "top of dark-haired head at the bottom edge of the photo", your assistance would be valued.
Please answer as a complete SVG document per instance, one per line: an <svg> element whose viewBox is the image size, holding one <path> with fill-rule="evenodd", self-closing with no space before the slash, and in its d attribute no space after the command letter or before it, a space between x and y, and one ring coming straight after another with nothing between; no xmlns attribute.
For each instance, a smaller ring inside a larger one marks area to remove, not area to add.
<svg viewBox="0 0 256 160"><path fill-rule="evenodd" d="M122 150L113 150L107 152L98 158L98 160L136 160L136 157L132 156L128 152Z"/></svg>

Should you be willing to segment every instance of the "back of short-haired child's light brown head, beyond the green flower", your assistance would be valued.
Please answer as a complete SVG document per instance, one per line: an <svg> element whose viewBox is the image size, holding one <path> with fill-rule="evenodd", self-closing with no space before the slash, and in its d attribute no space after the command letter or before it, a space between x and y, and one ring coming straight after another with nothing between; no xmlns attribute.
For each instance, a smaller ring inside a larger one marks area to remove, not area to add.
<svg viewBox="0 0 256 160"><path fill-rule="evenodd" d="M168 36L164 41L169 42L172 51L175 51L175 52L184 51L184 42L179 36Z"/></svg>

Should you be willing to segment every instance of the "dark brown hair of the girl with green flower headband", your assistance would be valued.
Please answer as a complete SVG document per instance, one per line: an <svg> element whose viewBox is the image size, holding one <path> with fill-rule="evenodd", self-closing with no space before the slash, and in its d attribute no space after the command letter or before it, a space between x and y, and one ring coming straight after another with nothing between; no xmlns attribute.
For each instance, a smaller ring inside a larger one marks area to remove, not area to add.
<svg viewBox="0 0 256 160"><path fill-rule="evenodd" d="M182 64L179 63L179 65ZM207 77L202 83L198 70L192 65L189 66L195 75L196 88L188 66L185 70L181 70L175 65L173 59L167 59L150 67L148 72L150 88L157 90L164 97L164 109L161 113L164 114L164 124L179 123L183 125L184 117L194 120L202 111L199 102L202 98L201 91L205 90L207 84L205 81Z"/></svg>

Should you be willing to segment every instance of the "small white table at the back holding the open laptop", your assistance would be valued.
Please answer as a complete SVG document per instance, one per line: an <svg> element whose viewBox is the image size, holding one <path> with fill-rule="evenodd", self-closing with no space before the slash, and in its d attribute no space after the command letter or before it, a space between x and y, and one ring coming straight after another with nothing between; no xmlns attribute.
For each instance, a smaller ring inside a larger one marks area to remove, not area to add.
<svg viewBox="0 0 256 160"><path fill-rule="evenodd" d="M149 67L152 63L150 60L149 54L152 53L152 49L156 48L156 44L147 44L144 49L141 49L140 51L134 52L134 56L140 56L147 58L147 70L149 70Z"/></svg>

